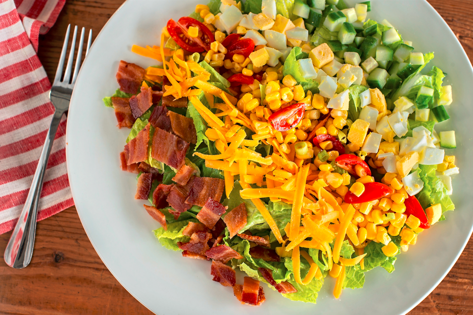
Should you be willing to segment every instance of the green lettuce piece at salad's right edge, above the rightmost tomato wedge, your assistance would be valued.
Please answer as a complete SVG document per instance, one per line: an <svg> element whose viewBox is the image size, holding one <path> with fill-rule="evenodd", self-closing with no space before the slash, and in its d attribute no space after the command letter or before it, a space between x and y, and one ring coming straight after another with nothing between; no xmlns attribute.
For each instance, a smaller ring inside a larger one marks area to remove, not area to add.
<svg viewBox="0 0 473 315"><path fill-rule="evenodd" d="M447 189L442 181L435 175L437 165L419 165L419 176L424 182L424 188L416 195L417 199L425 209L431 204L440 203L442 213L455 209L452 199L447 195Z"/></svg>

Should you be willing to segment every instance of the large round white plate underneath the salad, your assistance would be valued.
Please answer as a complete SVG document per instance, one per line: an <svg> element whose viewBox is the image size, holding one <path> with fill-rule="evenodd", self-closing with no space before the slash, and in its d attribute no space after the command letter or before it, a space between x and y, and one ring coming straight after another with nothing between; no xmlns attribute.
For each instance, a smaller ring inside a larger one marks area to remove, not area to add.
<svg viewBox="0 0 473 315"><path fill-rule="evenodd" d="M153 64L130 51L132 44L159 45L162 27L202 0L128 0L95 39L82 66L71 100L66 134L69 180L84 229L110 272L151 311L168 314L405 314L421 302L451 269L473 225L473 167L470 160L473 69L462 46L440 15L424 0L372 1L370 15L392 23L418 51L435 52L432 64L448 73L454 103L450 120L437 131L457 131L454 153L461 174L454 176L454 212L421 234L398 256L393 274L377 268L366 274L363 289L346 289L333 298L334 280L326 278L318 304L292 302L267 288L261 307L242 306L233 290L213 282L210 263L183 258L154 238L159 225L134 199L134 174L119 167L128 129L118 130L113 110L102 98L113 94L120 59L142 67ZM430 67L431 65L429 65ZM242 278L238 279L242 282Z"/></svg>

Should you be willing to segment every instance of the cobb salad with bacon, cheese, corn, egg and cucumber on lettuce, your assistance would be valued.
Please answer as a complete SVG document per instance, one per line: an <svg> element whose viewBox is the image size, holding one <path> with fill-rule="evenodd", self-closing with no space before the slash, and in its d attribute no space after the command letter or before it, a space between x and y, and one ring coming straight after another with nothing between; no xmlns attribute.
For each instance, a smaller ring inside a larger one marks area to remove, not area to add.
<svg viewBox="0 0 473 315"><path fill-rule="evenodd" d="M242 304L265 301L261 282L316 303L333 281L339 298L373 268L392 273L455 208L455 131L435 131L452 87L427 68L433 52L369 11L211 0L170 19L158 45L133 45L155 65L120 61L103 99L131 129L121 169L137 174L154 235L211 261Z"/></svg>

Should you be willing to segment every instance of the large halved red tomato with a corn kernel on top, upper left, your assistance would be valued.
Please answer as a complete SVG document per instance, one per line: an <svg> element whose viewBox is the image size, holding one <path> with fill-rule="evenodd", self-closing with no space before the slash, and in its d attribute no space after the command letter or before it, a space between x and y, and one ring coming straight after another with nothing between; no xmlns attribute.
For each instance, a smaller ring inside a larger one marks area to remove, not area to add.
<svg viewBox="0 0 473 315"><path fill-rule="evenodd" d="M187 34L190 26L199 29L199 35L196 38L191 38ZM171 38L183 49L190 52L209 51L210 43L215 41L212 32L205 25L188 16L180 18L177 22L170 19L166 28Z"/></svg>

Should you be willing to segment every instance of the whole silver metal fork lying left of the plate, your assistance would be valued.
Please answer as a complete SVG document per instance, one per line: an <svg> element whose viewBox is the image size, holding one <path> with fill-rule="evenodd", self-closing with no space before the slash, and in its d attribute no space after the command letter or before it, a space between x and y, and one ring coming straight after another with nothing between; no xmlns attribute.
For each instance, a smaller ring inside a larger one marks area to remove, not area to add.
<svg viewBox="0 0 473 315"><path fill-rule="evenodd" d="M77 50L76 65L74 68L74 74L71 80L72 74L72 63L74 61L74 49L77 38L77 26L74 28L74 35L72 36L71 50L69 52L69 58L67 60L66 70L64 72L64 79L62 79L62 69L64 68L64 61L67 53L67 43L69 40L69 34L71 31L71 25L67 27L66 37L62 46L61 57L59 58L59 64L57 65L56 76L52 83L51 91L49 92L49 98L52 104L54 104L54 116L47 131L47 137L43 151L41 152L40 159L38 161L38 167L36 168L35 175L33 177L33 183L31 184L26 203L21 211L18 223L13 230L10 240L6 245L5 254L3 258L8 266L13 268L24 268L28 266L33 255L33 245L35 243L36 233L36 217L38 215L38 206L40 203L41 190L43 188L43 179L45 176L47 159L51 152L52 143L54 136L56 135L57 127L61 121L62 115L69 109L69 102L71 100L72 89L77 79L79 69L82 61L82 49L84 44L85 28L82 28L81 39L79 41L79 49ZM87 42L86 55L89 52L89 48L92 43L92 30L89 32L89 39Z"/></svg>

